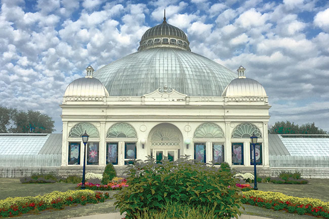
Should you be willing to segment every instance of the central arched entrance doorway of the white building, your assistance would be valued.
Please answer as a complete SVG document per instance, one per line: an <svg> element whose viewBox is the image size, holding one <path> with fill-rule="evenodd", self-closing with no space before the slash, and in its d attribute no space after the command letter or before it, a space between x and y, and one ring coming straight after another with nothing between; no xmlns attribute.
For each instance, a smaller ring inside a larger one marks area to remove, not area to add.
<svg viewBox="0 0 329 219"><path fill-rule="evenodd" d="M156 125L149 133L148 145L150 145L150 155L161 162L163 157L175 161L180 156L180 149L183 143L181 131L170 123Z"/></svg>

